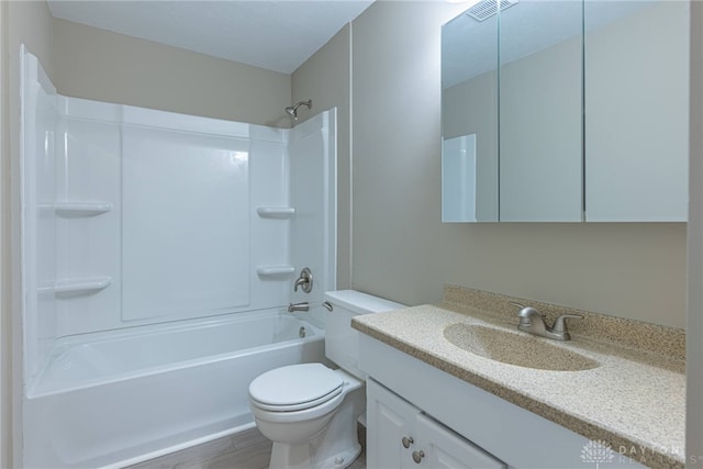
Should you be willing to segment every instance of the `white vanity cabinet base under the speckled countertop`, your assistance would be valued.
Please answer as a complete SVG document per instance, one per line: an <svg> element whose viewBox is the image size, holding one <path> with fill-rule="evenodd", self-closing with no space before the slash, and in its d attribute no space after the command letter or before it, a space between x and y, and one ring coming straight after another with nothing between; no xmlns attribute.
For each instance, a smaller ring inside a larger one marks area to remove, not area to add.
<svg viewBox="0 0 703 469"><path fill-rule="evenodd" d="M359 368L369 376L369 469L565 469L605 462L588 457L594 445L589 438L366 334L359 334ZM403 437L413 438L409 448ZM419 465L415 450L424 453ZM606 455L607 468L644 468L625 456L627 450Z"/></svg>

